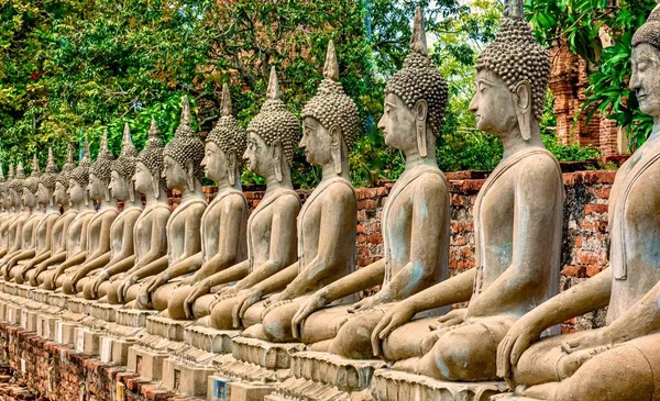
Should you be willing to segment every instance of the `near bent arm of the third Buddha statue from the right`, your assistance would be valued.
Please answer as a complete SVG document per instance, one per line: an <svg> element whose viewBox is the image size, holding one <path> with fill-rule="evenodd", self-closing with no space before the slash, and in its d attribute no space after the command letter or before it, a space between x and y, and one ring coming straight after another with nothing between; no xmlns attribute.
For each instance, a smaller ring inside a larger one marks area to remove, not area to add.
<svg viewBox="0 0 660 401"><path fill-rule="evenodd" d="M440 177L417 185L410 226L410 260L374 297L380 303L400 301L428 287L438 267L438 247L449 246L449 196ZM444 240L444 241L443 241Z"/></svg>

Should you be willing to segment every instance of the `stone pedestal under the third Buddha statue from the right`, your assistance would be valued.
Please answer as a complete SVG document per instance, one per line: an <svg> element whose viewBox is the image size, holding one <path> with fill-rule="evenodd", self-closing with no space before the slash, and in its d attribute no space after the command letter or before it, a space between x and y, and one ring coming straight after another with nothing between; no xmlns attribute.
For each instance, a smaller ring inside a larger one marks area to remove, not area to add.
<svg viewBox="0 0 660 401"><path fill-rule="evenodd" d="M366 390L383 360L346 359L338 355L300 352L292 355L292 377L277 386L275 394L286 400L341 400ZM321 397L322 396L322 397Z"/></svg>

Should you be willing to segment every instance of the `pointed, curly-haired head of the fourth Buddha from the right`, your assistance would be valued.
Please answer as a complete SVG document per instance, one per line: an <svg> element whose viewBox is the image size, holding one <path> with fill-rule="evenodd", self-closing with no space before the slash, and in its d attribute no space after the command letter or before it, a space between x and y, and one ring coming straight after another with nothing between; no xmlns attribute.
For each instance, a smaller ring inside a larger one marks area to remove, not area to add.
<svg viewBox="0 0 660 401"><path fill-rule="evenodd" d="M300 148L307 161L324 166L333 163L342 172L355 138L360 135L360 112L339 82L339 63L334 43L328 43L323 80L317 94L302 108Z"/></svg>

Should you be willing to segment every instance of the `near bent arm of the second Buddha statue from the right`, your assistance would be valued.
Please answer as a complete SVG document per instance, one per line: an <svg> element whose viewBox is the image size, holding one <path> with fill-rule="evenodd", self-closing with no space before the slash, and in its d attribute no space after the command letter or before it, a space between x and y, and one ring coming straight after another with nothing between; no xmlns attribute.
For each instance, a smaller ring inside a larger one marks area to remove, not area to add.
<svg viewBox="0 0 660 401"><path fill-rule="evenodd" d="M539 288L553 278L552 243L561 231L561 177L549 158L520 166L515 190L515 230L510 266L469 307L470 316L488 316L521 310ZM534 182L541 182L540 185Z"/></svg>

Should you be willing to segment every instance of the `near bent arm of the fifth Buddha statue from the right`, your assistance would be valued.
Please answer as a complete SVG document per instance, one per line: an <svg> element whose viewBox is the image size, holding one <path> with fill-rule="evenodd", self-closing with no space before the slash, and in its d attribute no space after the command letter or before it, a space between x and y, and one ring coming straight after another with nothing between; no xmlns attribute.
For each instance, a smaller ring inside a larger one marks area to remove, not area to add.
<svg viewBox="0 0 660 401"><path fill-rule="evenodd" d="M298 244L296 218L300 205L294 197L284 198L286 199L278 200L273 205L268 260L256 267L248 277L237 282L233 286L235 290L244 290L256 286L293 261L290 260L292 255L296 255L295 248ZM283 204L279 204L280 201Z"/></svg>

